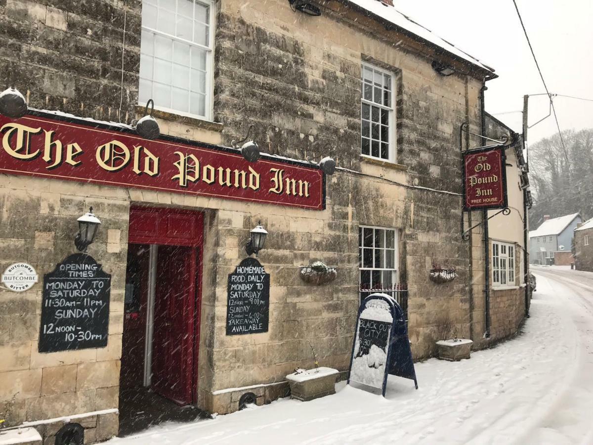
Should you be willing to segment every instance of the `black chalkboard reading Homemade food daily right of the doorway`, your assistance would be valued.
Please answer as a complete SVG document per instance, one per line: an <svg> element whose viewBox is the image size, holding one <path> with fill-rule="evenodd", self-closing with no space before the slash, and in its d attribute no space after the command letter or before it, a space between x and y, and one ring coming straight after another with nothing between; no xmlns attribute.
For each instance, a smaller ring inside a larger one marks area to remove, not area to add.
<svg viewBox="0 0 593 445"><path fill-rule="evenodd" d="M270 274L255 258L246 258L228 275L227 335L267 332Z"/></svg>

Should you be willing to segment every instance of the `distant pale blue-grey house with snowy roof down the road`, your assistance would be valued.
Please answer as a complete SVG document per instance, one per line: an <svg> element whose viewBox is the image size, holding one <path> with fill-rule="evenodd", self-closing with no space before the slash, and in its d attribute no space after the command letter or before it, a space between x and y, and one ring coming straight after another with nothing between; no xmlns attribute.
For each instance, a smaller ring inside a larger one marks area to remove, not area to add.
<svg viewBox="0 0 593 445"><path fill-rule="evenodd" d="M544 222L529 233L529 256L533 264L553 264L554 252L570 251L576 225L583 218L578 213L559 218L544 216Z"/></svg>

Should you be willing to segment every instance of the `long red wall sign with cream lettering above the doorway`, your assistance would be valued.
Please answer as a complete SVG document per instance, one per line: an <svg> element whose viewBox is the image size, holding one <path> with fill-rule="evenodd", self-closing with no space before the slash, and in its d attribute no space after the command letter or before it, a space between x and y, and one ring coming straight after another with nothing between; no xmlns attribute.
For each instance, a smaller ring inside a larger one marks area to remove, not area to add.
<svg viewBox="0 0 593 445"><path fill-rule="evenodd" d="M0 115L0 171L53 179L190 193L321 210L325 176L317 166L34 112Z"/></svg>

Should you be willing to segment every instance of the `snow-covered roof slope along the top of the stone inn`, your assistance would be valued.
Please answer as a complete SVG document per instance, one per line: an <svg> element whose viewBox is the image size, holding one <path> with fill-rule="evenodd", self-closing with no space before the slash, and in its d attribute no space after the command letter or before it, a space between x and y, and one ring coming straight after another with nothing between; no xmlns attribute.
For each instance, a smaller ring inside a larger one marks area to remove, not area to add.
<svg viewBox="0 0 593 445"><path fill-rule="evenodd" d="M401 14L396 8L393 6L385 5L383 2L379 0L347 0L347 2L358 6L359 8L365 9L371 14L377 15L378 17L387 20L397 27L407 31L410 34L414 34L416 37L419 37L420 40L427 42L429 44L438 46L441 49L451 53L451 55L461 58L466 62L470 62L472 65L479 66L479 68L485 69L491 73L494 73L494 69L486 64L482 63L479 59L470 56L468 53L462 51L452 43L447 42L447 40L441 39L441 37L434 34L428 28L423 27L419 23L413 21L410 17ZM496 77L496 75L495 75Z"/></svg>

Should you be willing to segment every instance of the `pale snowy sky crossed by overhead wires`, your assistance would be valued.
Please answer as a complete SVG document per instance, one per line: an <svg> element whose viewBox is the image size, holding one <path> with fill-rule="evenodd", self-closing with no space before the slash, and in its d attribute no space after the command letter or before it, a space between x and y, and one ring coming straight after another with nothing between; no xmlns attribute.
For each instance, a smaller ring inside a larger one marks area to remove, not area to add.
<svg viewBox="0 0 593 445"><path fill-rule="evenodd" d="M517 0L550 93L593 99L593 1ZM521 132L523 95L544 93L512 0L394 0L439 37L492 66L486 110ZM557 97L562 130L593 127L593 102ZM530 124L548 113L546 96L530 99ZM549 117L529 130L528 142L556 132Z"/></svg>

